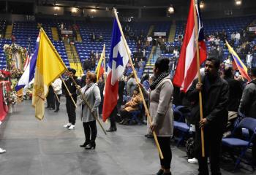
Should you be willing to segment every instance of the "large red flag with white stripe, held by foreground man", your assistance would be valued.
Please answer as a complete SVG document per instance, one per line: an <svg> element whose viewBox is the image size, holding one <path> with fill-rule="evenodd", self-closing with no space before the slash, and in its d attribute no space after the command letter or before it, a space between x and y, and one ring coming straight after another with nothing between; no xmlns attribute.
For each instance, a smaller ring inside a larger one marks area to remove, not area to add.
<svg viewBox="0 0 256 175"><path fill-rule="evenodd" d="M194 19L194 0L191 0L187 27L184 35L181 54L178 59L176 72L173 77L173 84L180 87L185 93L197 77L197 54L195 43L195 19ZM206 60L206 43L204 42L203 23L200 17L199 1L195 5L198 21L198 45L200 54L200 64Z"/></svg>

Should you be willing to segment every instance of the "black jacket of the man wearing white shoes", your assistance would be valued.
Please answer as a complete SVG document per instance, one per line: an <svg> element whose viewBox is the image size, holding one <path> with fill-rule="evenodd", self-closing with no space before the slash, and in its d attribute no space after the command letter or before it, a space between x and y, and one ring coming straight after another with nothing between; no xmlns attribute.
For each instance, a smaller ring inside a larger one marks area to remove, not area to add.
<svg viewBox="0 0 256 175"><path fill-rule="evenodd" d="M78 85L80 85L80 81L78 80L78 77L75 76L74 79L75 79L75 82L76 82ZM69 93L72 94L72 98L74 98L74 100L76 100L77 97L78 97L78 95L76 94L75 83L72 82L72 79L71 79L71 78L68 78L67 80L64 80L64 82L66 83L67 88L69 89ZM65 86L64 86L64 83L62 83L61 86L62 86L62 90L63 90L63 92L64 92L66 98L70 98L69 93L67 92L67 89L66 89ZM71 99L71 98L70 98L70 99Z"/></svg>

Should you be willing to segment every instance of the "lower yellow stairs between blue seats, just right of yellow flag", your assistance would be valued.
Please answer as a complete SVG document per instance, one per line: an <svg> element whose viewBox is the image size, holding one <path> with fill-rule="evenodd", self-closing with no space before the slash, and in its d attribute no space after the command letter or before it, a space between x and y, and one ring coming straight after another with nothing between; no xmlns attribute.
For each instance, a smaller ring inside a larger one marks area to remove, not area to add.
<svg viewBox="0 0 256 175"><path fill-rule="evenodd" d="M69 59L69 66L77 71L76 76L81 77L83 69L75 45L64 43L64 46L67 52L67 58Z"/></svg>

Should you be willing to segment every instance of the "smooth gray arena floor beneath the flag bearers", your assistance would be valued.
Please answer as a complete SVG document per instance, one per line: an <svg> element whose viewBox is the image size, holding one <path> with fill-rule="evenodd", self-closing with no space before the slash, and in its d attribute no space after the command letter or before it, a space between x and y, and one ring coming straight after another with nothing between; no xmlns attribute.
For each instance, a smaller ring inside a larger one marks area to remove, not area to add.
<svg viewBox="0 0 256 175"><path fill-rule="evenodd" d="M144 137L145 125L117 125L118 131L108 136L98 127L96 149L86 150L79 147L84 142L79 117L74 131L62 128L67 113L64 98L61 102L58 114L46 109L45 119L39 121L31 101L24 101L0 125L0 147L7 149L0 155L1 175L146 175L158 171L157 149L151 139ZM107 129L109 124L104 126ZM174 145L172 173L197 174L197 165L187 163L184 147ZM232 169L232 161L222 161L222 174L234 174ZM240 169L235 174L252 173Z"/></svg>

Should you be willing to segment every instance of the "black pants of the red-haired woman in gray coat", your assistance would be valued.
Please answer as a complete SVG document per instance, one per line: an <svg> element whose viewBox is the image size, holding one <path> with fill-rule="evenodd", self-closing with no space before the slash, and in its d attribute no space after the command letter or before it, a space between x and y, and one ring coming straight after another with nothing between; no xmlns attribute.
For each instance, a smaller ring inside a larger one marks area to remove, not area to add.
<svg viewBox="0 0 256 175"><path fill-rule="evenodd" d="M97 137L97 125L96 120L83 123L84 135L86 136L86 143L95 142Z"/></svg>

